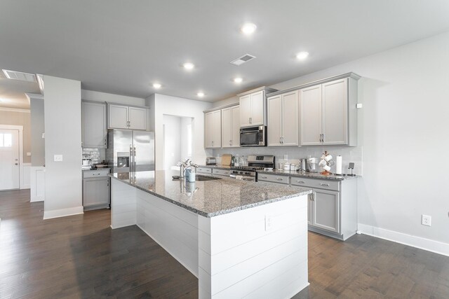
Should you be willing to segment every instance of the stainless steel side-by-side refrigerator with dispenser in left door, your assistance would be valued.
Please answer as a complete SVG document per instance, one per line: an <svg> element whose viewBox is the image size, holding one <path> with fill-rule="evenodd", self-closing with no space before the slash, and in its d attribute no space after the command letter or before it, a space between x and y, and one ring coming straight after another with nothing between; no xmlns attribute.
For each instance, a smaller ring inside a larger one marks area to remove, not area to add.
<svg viewBox="0 0 449 299"><path fill-rule="evenodd" d="M111 172L154 170L154 132L107 131L106 160Z"/></svg>

